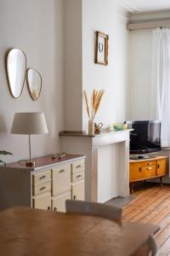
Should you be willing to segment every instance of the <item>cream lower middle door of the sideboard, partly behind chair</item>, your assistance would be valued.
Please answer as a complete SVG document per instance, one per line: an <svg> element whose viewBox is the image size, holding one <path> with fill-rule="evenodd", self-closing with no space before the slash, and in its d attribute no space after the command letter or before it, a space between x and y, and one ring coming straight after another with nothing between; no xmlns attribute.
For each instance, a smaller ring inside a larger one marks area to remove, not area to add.
<svg viewBox="0 0 170 256"><path fill-rule="evenodd" d="M60 195L52 200L52 209L54 212L65 212L65 200L71 199L71 192Z"/></svg>

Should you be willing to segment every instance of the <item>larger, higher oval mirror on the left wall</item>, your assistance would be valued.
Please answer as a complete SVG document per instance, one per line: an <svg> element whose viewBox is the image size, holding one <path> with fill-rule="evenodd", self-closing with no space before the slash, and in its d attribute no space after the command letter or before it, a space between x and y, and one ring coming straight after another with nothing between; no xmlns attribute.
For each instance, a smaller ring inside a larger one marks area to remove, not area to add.
<svg viewBox="0 0 170 256"><path fill-rule="evenodd" d="M26 75L26 55L21 49L10 49L6 59L7 78L14 98L20 97Z"/></svg>

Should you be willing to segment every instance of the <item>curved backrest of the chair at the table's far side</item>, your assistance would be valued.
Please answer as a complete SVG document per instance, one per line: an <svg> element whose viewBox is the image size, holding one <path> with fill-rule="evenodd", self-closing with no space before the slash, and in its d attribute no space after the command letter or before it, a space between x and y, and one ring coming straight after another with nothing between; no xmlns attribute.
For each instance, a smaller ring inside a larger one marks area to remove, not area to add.
<svg viewBox="0 0 170 256"><path fill-rule="evenodd" d="M65 201L66 212L94 215L121 221L122 208L88 201Z"/></svg>

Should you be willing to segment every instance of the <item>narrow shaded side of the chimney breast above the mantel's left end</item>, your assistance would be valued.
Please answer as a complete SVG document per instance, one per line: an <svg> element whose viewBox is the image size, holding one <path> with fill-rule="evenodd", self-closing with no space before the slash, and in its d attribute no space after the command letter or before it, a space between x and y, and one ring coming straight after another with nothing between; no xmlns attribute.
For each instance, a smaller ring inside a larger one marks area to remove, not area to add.
<svg viewBox="0 0 170 256"><path fill-rule="evenodd" d="M64 1L65 130L82 130L82 0Z"/></svg>

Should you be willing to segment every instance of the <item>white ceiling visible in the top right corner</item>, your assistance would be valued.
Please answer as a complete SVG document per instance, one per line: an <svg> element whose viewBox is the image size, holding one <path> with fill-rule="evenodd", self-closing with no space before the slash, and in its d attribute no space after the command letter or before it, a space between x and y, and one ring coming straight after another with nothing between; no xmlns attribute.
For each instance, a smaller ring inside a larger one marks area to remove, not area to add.
<svg viewBox="0 0 170 256"><path fill-rule="evenodd" d="M170 9L170 0L119 0L130 12L150 12Z"/></svg>

